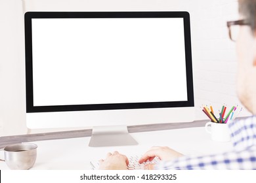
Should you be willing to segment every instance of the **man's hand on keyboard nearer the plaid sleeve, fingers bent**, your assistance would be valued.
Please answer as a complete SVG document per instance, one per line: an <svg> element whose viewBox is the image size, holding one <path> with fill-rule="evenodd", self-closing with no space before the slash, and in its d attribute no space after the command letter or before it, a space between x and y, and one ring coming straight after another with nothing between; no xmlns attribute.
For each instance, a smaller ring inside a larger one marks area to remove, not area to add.
<svg viewBox="0 0 256 183"><path fill-rule="evenodd" d="M159 147L154 146L150 148L140 159L139 163L144 163L145 161L152 161L154 158L158 157L161 160L172 160L183 156L181 153L169 148L169 147ZM154 169L154 165L146 165L145 169Z"/></svg>

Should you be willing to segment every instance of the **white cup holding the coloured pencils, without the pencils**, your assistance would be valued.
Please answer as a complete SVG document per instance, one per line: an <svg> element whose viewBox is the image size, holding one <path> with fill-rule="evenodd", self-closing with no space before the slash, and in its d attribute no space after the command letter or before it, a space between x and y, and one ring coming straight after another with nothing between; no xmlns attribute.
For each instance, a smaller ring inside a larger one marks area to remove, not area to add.
<svg viewBox="0 0 256 183"><path fill-rule="evenodd" d="M230 141L230 131L228 124L220 124L215 122L207 122L205 131L211 134L211 139L218 142Z"/></svg>

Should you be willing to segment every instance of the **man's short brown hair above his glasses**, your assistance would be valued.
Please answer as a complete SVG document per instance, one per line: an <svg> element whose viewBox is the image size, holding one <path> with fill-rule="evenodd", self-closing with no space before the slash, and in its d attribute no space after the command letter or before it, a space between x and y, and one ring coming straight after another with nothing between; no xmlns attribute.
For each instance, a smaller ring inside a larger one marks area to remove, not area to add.
<svg viewBox="0 0 256 183"><path fill-rule="evenodd" d="M239 12L249 22L252 31L256 31L256 0L239 0Z"/></svg>

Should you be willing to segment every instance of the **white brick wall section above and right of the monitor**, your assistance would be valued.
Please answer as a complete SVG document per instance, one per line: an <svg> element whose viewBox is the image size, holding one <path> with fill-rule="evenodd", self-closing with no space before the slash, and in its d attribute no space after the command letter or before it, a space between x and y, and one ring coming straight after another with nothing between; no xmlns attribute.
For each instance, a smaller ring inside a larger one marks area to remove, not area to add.
<svg viewBox="0 0 256 183"><path fill-rule="evenodd" d="M202 104L221 108L239 104L236 97L236 49L226 21L238 20L238 0L26 0L27 10L181 10L190 12L196 119L204 119ZM53 3L54 2L54 3ZM108 2L108 3L106 3ZM63 5L63 6L60 6ZM86 5L86 6L85 6ZM244 110L241 116L248 115Z"/></svg>

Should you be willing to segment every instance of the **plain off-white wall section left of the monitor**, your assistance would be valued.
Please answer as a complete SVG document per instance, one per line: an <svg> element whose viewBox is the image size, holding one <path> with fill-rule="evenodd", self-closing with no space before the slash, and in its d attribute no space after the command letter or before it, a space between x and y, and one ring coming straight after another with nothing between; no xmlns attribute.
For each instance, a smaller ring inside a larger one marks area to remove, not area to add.
<svg viewBox="0 0 256 183"><path fill-rule="evenodd" d="M26 133L22 1L0 0L0 135ZM22 125L23 124L23 125Z"/></svg>

